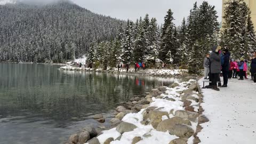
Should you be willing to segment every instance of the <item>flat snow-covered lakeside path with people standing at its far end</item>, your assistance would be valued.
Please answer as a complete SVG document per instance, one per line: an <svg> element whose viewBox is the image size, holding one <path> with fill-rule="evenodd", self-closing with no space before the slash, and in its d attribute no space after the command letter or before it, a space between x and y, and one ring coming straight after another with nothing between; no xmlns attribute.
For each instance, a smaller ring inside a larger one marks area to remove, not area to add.
<svg viewBox="0 0 256 144"><path fill-rule="evenodd" d="M219 92L202 89L201 106L209 122L201 124L197 135L201 143L256 143L256 85L252 83L230 79ZM203 79L198 84L202 87Z"/></svg>

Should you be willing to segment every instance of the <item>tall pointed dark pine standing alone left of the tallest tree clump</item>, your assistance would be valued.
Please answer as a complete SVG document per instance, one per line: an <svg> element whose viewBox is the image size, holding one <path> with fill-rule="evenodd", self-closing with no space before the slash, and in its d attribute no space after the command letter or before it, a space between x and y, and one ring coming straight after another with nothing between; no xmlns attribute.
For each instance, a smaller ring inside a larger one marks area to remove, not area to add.
<svg viewBox="0 0 256 144"><path fill-rule="evenodd" d="M159 50L159 59L166 63L177 63L177 47L175 47L176 38L174 37L173 12L170 9L164 17L164 25L162 29L161 49Z"/></svg>

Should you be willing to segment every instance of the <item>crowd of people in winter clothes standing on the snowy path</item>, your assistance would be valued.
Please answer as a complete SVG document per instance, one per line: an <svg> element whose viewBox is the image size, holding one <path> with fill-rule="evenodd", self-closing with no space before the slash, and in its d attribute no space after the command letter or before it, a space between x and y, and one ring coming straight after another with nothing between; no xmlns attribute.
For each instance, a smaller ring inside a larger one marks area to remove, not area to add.
<svg viewBox="0 0 256 144"><path fill-rule="evenodd" d="M204 59L204 78L209 79L207 89L220 91L218 87L227 87L228 79L238 78L242 81L247 78L247 71L250 71L251 80L256 83L256 51L252 53L250 60L243 57L239 60L230 58L228 49L221 51L221 46L213 46L212 52L206 54ZM223 77L223 85L221 85L220 77ZM218 86L217 86L218 84Z"/></svg>

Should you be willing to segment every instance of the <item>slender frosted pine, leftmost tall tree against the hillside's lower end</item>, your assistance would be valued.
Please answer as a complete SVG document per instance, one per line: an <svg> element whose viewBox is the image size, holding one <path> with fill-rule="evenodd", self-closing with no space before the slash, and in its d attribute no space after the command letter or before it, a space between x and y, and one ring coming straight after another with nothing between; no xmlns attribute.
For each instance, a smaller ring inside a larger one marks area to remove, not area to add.
<svg viewBox="0 0 256 144"><path fill-rule="evenodd" d="M130 64L132 62L133 58L133 28L132 28L132 22L130 20L127 20L126 28L124 31L124 40L122 43L122 61L125 64Z"/></svg>

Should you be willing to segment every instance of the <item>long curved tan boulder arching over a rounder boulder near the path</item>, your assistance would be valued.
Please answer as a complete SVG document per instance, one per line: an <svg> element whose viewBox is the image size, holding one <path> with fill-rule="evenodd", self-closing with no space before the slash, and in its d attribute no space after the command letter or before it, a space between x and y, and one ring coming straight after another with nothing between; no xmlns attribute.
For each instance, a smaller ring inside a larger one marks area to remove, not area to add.
<svg viewBox="0 0 256 144"><path fill-rule="evenodd" d="M165 119L164 121L159 123L156 130L161 132L166 132L166 131L169 131L171 127L174 127L175 124L191 125L188 119L184 119L181 117L172 117L170 119Z"/></svg>

